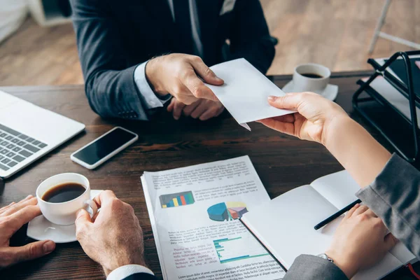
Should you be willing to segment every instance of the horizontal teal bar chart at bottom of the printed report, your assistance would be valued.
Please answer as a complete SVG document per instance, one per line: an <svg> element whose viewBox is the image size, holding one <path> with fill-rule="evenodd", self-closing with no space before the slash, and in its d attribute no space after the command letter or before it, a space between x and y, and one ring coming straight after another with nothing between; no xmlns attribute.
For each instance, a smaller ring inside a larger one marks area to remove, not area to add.
<svg viewBox="0 0 420 280"><path fill-rule="evenodd" d="M269 255L253 237L224 238L213 241L221 263Z"/></svg>

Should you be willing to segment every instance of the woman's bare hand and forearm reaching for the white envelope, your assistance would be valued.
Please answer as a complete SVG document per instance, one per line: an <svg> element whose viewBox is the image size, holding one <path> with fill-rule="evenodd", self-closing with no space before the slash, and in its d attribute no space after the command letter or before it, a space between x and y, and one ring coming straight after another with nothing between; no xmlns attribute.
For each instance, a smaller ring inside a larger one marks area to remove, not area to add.
<svg viewBox="0 0 420 280"><path fill-rule="evenodd" d="M284 97L269 97L269 104L297 113L267 118L260 123L323 144L362 188L374 181L391 158L391 153L340 106L319 94L288 93Z"/></svg>

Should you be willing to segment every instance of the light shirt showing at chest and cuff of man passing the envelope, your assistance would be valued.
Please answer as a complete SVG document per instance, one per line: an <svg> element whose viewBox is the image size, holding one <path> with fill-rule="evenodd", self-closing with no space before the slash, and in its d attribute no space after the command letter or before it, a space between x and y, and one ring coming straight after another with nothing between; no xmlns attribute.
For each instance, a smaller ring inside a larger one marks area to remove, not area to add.
<svg viewBox="0 0 420 280"><path fill-rule="evenodd" d="M176 21L174 13L174 0L168 0L169 8L171 9L172 19ZM190 4L190 20L191 20L191 29L193 33L193 50L194 54L201 56L203 52L203 45L200 38L200 25L198 21L197 5L195 0L189 0ZM159 98L153 92L151 86L149 85L146 79L146 64L148 61L137 66L134 70L134 81L139 88L140 94L144 97L145 106L147 109L155 109L158 107L163 107L166 102L171 99L171 96L165 98Z"/></svg>

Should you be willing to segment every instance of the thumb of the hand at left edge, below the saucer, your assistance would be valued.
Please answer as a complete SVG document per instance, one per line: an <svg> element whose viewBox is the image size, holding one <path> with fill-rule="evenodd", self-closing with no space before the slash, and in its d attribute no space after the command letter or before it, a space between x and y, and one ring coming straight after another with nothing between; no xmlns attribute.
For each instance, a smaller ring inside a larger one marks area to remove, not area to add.
<svg viewBox="0 0 420 280"><path fill-rule="evenodd" d="M21 247L9 247L10 254L13 255L10 265L25 260L34 260L48 255L55 249L55 243L51 240L43 240L29 243Z"/></svg>

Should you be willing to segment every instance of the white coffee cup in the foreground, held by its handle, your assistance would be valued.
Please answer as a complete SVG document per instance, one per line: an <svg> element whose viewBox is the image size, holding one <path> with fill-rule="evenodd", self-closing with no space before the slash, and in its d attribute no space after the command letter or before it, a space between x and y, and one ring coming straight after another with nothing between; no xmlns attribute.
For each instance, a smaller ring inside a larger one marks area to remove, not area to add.
<svg viewBox="0 0 420 280"><path fill-rule="evenodd" d="M90 200L90 184L85 176L64 173L52 176L36 189L36 198L43 216L57 225L72 225L80 209L92 209L97 214L97 204Z"/></svg>

